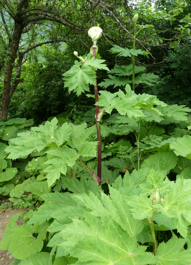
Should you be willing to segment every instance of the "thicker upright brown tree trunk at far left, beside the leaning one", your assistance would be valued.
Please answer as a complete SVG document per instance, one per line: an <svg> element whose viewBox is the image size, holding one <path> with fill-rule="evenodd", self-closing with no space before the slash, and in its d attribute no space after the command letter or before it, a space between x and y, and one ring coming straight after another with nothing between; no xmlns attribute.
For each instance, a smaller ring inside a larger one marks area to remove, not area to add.
<svg viewBox="0 0 191 265"><path fill-rule="evenodd" d="M11 75L13 72L16 55L19 49L19 42L21 39L22 30L23 30L23 22L21 21L21 19L18 18L17 21L15 21L15 27L14 27L11 47L9 51L9 59L5 67L4 90L2 94L0 120L6 120L8 111L9 111L10 92L11 92Z"/></svg>

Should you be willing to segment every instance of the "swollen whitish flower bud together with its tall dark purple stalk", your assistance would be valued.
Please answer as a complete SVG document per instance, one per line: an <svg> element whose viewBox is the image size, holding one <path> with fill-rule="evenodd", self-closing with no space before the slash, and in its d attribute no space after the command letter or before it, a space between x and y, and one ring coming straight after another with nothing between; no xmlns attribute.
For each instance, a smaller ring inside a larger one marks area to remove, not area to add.
<svg viewBox="0 0 191 265"><path fill-rule="evenodd" d="M102 29L100 27L92 27L88 30L88 35L93 41L93 46L90 49L91 57L96 59L96 54L98 53L98 47L96 46L97 40L102 35ZM96 73L95 73L96 75ZM96 78L96 85L94 86L95 93L95 103L98 102L98 84ZM101 180L101 129L100 129L100 117L103 115L104 111L101 111L99 115L99 106L96 105L96 127L97 127L97 141L98 141L98 177Z"/></svg>

